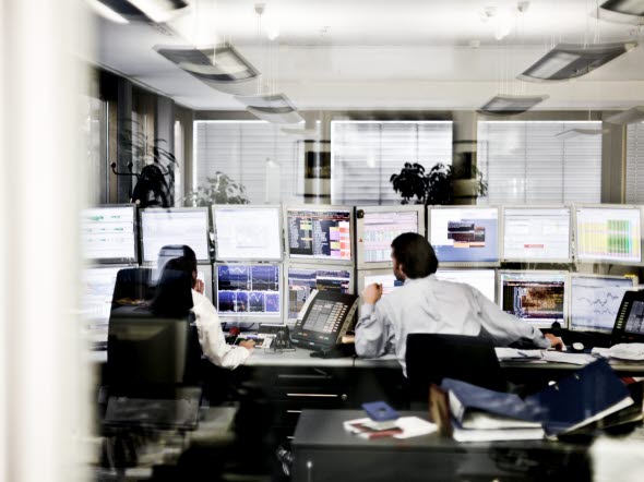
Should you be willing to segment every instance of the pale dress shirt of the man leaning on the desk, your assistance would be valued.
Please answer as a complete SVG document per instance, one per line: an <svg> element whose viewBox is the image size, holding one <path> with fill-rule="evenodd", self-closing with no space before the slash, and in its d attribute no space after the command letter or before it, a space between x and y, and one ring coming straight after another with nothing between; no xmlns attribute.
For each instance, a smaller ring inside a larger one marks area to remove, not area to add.
<svg viewBox="0 0 644 482"><path fill-rule="evenodd" d="M524 340L537 348L550 347L539 329L503 312L476 288L439 281L434 275L407 279L375 305L363 304L356 325L356 353L363 358L396 353L406 376L405 350L410 333L487 334L494 346Z"/></svg>

